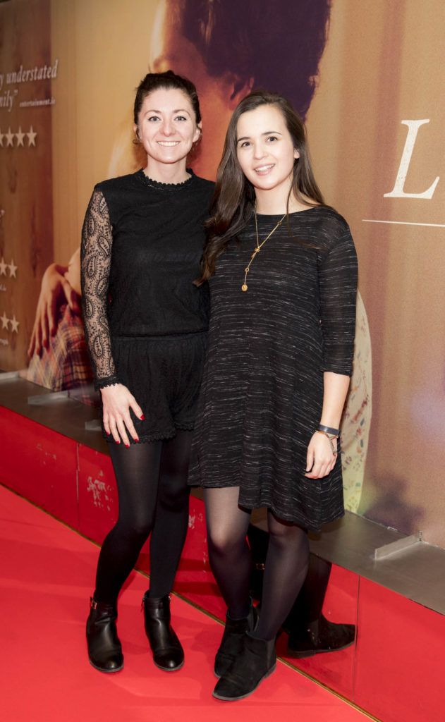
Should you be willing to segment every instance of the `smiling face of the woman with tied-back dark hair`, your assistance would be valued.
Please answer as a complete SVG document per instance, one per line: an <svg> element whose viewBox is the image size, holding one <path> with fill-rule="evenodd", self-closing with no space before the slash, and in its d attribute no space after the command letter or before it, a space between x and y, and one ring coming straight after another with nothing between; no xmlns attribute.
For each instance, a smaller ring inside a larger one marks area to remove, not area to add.
<svg viewBox="0 0 445 722"><path fill-rule="evenodd" d="M137 126L148 165L186 163L200 129L189 97L181 90L159 88L144 98Z"/></svg>

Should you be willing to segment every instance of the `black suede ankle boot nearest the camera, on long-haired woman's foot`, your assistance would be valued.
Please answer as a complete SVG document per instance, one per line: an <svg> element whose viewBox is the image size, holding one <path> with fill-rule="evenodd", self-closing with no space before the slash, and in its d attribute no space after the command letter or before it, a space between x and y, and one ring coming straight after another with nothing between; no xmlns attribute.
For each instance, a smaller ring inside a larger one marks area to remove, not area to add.
<svg viewBox="0 0 445 722"><path fill-rule="evenodd" d="M275 639L264 640L244 635L243 649L217 682L213 696L235 702L249 697L277 666Z"/></svg>

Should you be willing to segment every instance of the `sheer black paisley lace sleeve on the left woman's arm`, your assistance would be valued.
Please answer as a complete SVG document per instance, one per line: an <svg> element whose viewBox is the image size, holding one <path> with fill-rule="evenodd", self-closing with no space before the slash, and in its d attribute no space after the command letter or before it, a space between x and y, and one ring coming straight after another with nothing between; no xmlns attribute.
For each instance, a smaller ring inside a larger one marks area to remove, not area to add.
<svg viewBox="0 0 445 722"><path fill-rule="evenodd" d="M107 318L112 245L108 206L102 191L95 189L82 227L81 281L85 338L90 350L96 389L119 383L111 355Z"/></svg>

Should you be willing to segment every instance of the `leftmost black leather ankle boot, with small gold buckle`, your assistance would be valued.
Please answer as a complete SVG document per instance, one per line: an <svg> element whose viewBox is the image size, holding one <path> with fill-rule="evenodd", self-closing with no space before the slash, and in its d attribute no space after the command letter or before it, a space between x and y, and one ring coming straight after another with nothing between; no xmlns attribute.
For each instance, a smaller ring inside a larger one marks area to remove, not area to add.
<svg viewBox="0 0 445 722"><path fill-rule="evenodd" d="M87 619L87 645L90 664L101 672L118 672L124 666L122 647L116 630L116 607L91 598Z"/></svg>

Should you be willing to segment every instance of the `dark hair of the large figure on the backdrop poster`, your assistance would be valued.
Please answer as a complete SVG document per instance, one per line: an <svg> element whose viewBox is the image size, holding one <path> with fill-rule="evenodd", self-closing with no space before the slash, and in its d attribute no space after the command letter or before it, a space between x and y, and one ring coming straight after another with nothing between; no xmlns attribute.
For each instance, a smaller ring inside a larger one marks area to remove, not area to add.
<svg viewBox="0 0 445 722"><path fill-rule="evenodd" d="M272 88L302 118L316 90L332 0L176 0L176 20L212 77ZM173 20L173 10L170 18Z"/></svg>

